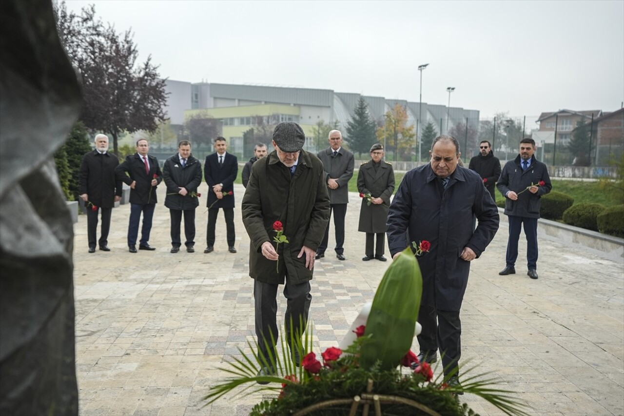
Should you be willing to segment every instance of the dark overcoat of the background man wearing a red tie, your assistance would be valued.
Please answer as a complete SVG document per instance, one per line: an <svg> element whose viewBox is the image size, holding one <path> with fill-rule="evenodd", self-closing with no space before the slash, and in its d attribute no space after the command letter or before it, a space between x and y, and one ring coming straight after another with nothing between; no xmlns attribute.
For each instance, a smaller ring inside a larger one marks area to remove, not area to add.
<svg viewBox="0 0 624 416"><path fill-rule="evenodd" d="M149 173L145 172L145 163L139 153L126 156L125 161L115 168L117 179L130 186L135 181L134 189L130 189L130 204L156 204L156 189L162 182L162 171L158 165L158 159L147 155L147 162L150 165ZM156 176L154 178L154 176ZM152 186L152 179L156 179L158 184Z"/></svg>

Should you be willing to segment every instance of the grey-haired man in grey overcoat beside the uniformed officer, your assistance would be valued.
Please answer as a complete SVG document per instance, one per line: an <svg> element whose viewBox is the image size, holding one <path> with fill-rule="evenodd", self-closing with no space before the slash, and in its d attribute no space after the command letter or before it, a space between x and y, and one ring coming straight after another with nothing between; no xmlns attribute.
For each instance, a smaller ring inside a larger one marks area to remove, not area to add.
<svg viewBox="0 0 624 416"><path fill-rule="evenodd" d="M349 179L353 176L353 153L343 149L343 135L338 130L329 132L329 147L318 152L317 156L323 162L325 181L331 201L331 212L334 213L334 228L336 229L336 257L344 260L344 217L347 214L349 203ZM325 230L323 242L318 247L316 259L325 257L325 250L329 244L329 223Z"/></svg>

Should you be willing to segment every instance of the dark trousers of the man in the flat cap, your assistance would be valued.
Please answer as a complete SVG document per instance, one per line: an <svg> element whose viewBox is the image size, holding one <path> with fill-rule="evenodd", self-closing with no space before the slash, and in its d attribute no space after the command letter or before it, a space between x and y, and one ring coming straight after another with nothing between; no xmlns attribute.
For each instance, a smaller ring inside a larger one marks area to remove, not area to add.
<svg viewBox="0 0 624 416"><path fill-rule="evenodd" d="M253 283L258 359L260 359L262 367L265 366L262 358L266 359L267 364L269 364L269 356L275 357L275 345L277 345L277 338L280 335L276 321L277 289L278 285L275 284L258 282L258 280L254 280ZM303 334L308 322L308 312L310 311L310 303L312 301L310 282L293 284L290 283L288 276L286 276L284 296L286 297L286 314L284 315L285 337L286 344L290 345L291 334L293 334L293 337L295 334ZM290 325L291 322L292 327ZM273 337L272 339L271 336Z"/></svg>

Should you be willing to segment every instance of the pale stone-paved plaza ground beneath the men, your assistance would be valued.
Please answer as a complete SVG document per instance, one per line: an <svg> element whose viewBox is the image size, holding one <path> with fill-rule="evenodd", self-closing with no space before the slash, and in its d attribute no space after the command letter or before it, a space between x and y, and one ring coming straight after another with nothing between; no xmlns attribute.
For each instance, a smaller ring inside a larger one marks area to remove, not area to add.
<svg viewBox="0 0 624 416"><path fill-rule="evenodd" d="M200 192L207 192L205 184ZM227 377L220 369L238 354L236 347L247 350L246 341L254 340L243 192L235 186L236 254L227 250L222 214L215 251L203 254L205 200L197 209L192 254L169 252L169 214L162 202L150 238L157 250L151 252L127 250L129 206L113 210L110 252L87 252L86 216L79 216L74 285L80 415L246 415L261 400L260 393L249 392L208 406L203 400L211 385ZM164 198L160 187L158 199ZM349 202L346 260L329 249L314 270L310 317L317 352L338 345L391 263L361 260L358 194L351 193ZM538 280L526 275L522 249L518 274L499 276L506 243L507 223L501 222L472 264L461 312L461 363L478 364L475 374L490 371L501 388L529 403L530 414L623 415L622 261L540 239ZM278 299L281 316L281 293ZM481 415L502 415L478 397L461 400Z"/></svg>

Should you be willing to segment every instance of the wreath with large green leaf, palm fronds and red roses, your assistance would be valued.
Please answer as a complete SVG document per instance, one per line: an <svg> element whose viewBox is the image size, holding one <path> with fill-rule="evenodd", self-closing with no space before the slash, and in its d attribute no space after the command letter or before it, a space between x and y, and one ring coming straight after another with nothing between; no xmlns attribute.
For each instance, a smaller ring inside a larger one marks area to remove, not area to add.
<svg viewBox="0 0 624 416"><path fill-rule="evenodd" d="M408 248L386 270L366 325L353 330L357 338L349 347L329 347L319 360L313 352L308 322L304 334L291 334L288 343L296 345L299 355L295 356L303 357L301 363L293 362L282 337L281 355L269 354L269 363L262 357L261 366L268 364L274 374L260 375L260 357L248 342L253 357L239 349L242 359L233 357L230 367L223 369L231 377L213 385L205 399L212 403L236 387L250 384L242 391L255 387L253 392L275 393L273 397L263 396L251 410L252 416L359 416L369 411L375 415L475 415L457 397L466 392L482 397L507 415L527 415L522 410L526 405L513 392L490 387L494 379L469 375L475 367L462 369L462 384L454 384L449 382L454 374L434 379L431 366L418 362L410 347L421 294L421 272Z"/></svg>

